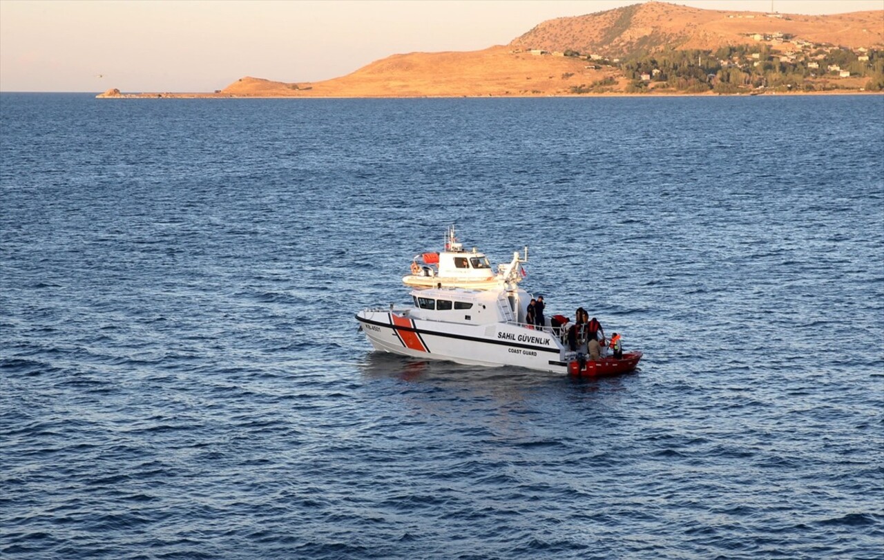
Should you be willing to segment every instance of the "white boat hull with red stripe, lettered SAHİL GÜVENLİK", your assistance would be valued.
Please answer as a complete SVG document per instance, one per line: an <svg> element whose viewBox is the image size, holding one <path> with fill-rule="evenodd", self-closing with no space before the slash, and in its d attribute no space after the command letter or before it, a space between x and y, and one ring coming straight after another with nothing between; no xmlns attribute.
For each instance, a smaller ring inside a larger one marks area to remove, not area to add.
<svg viewBox="0 0 884 560"><path fill-rule="evenodd" d="M364 310L356 314L376 350L420 359L459 364L527 367L564 374L566 351L547 330L514 323L465 325L411 319L395 311Z"/></svg>

